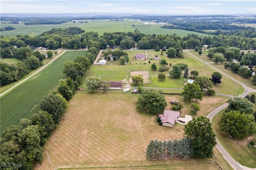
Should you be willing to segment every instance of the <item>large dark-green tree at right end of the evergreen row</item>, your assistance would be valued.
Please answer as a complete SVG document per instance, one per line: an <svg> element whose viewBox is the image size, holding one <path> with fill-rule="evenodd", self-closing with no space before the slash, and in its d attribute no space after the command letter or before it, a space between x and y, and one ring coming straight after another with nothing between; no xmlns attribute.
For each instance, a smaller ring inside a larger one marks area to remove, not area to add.
<svg viewBox="0 0 256 170"><path fill-rule="evenodd" d="M196 158L212 158L213 148L217 144L210 119L206 117L193 118L184 127L184 136L191 139Z"/></svg>

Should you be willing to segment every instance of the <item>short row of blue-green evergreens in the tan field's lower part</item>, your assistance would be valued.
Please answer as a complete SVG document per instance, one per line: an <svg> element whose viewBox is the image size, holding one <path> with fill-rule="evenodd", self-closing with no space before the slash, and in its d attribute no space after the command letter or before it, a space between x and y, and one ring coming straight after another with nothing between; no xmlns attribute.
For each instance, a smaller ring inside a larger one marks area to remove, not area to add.
<svg viewBox="0 0 256 170"><path fill-rule="evenodd" d="M163 142L156 140L150 140L146 157L148 159L167 159L167 158L182 158L188 159L193 154L191 147L191 139L182 138L178 140L164 140Z"/></svg>

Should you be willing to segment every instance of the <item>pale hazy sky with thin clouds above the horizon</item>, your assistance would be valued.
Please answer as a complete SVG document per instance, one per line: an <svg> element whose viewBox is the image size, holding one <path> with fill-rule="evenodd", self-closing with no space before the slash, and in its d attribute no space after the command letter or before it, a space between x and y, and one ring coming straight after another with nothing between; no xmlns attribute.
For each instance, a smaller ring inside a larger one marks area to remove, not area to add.
<svg viewBox="0 0 256 170"><path fill-rule="evenodd" d="M256 14L256 0L0 0L1 13Z"/></svg>

